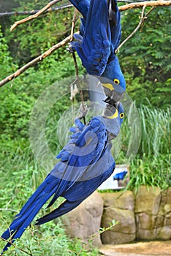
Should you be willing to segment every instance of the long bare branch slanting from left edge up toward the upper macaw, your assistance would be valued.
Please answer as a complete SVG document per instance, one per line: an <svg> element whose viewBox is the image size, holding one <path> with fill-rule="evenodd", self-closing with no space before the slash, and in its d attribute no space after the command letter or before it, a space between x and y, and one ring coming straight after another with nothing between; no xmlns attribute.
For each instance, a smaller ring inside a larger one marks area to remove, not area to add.
<svg viewBox="0 0 171 256"><path fill-rule="evenodd" d="M42 53L40 56L38 56L36 59L33 59L32 61L28 62L26 65L24 65L23 67L21 67L20 69L18 69L16 72L14 72L12 75L9 75L7 78L4 78L3 80L0 81L0 87L4 86L4 84L8 83L9 81L11 81L14 78L17 78L18 75L22 74L24 71L26 71L26 69L28 69L29 67L34 66L35 64L37 64L37 62L42 61L43 59L45 59L47 56L50 56L51 53L53 53L54 50L57 50L58 48L60 48L63 45L66 45L67 42L70 41L70 36L66 37L64 40L62 40L61 42L58 42L58 44L53 45L53 47L51 47L50 49L46 50L45 53Z"/></svg>

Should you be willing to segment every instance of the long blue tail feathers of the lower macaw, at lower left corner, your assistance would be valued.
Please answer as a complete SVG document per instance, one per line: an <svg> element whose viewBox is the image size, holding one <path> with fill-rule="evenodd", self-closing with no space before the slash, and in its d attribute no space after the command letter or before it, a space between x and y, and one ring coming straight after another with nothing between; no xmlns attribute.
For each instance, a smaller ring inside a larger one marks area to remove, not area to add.
<svg viewBox="0 0 171 256"><path fill-rule="evenodd" d="M49 174L34 194L31 195L27 203L20 210L20 213L15 216L15 219L1 237L6 240L11 238L12 243L16 238L20 238L42 206L56 192L58 182L58 178ZM6 251L9 246L11 246L11 243L7 243L3 252Z"/></svg>

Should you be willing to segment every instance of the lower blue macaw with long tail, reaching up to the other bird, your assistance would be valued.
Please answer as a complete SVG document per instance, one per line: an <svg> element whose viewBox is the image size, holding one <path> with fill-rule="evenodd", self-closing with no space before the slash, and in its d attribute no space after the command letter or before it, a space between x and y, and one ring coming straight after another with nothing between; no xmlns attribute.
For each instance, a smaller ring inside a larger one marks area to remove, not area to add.
<svg viewBox="0 0 171 256"><path fill-rule="evenodd" d="M75 127L70 129L72 135L69 143L57 156L59 162L31 195L1 237L10 238L12 242L20 238L52 196L47 207L52 206L58 197L64 197L66 200L54 211L38 219L36 225L66 214L91 195L115 169L115 160L110 153L110 140L118 135L122 121L121 102L118 104L118 109L107 104L104 116L95 116L86 125L79 118L75 119ZM3 252L10 245L7 243Z"/></svg>

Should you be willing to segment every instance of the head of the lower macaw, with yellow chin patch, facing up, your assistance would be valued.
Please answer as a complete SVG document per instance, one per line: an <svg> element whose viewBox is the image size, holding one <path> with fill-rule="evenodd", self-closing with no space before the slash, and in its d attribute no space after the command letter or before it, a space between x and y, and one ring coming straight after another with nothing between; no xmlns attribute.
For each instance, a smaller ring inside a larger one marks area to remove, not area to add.
<svg viewBox="0 0 171 256"><path fill-rule="evenodd" d="M111 139L117 137L123 122L124 110L121 102L117 105L107 104L104 109L104 122Z"/></svg>

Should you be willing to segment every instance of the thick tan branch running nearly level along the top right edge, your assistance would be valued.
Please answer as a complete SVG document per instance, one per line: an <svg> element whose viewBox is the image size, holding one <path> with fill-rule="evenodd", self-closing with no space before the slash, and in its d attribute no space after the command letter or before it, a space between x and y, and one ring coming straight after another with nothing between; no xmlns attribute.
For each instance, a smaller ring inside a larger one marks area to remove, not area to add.
<svg viewBox="0 0 171 256"><path fill-rule="evenodd" d="M142 1L142 2L136 2L136 3L132 3L132 4L126 4L123 5L121 7L118 7L118 10L120 12L129 10L129 9L134 9L134 8L141 8L143 6L145 7L157 7L157 6L170 6L171 5L171 1Z"/></svg>

